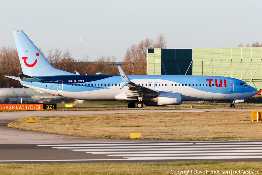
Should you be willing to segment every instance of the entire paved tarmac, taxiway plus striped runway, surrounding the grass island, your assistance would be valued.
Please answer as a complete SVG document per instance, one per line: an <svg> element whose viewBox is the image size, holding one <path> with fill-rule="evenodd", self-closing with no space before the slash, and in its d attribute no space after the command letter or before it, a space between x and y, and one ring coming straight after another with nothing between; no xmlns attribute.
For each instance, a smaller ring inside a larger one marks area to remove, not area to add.
<svg viewBox="0 0 262 175"><path fill-rule="evenodd" d="M0 112L0 162L261 161L262 141L99 139L7 127L26 116L99 113L261 111L261 109Z"/></svg>

